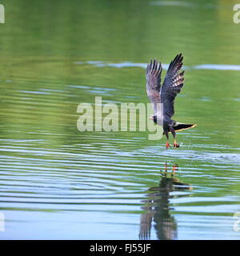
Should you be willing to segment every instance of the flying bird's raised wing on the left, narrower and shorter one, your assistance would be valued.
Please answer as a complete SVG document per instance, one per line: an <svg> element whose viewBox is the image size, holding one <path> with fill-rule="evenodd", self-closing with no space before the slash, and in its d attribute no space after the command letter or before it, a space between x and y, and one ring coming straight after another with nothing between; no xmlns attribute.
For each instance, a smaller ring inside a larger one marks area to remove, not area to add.
<svg viewBox="0 0 240 256"><path fill-rule="evenodd" d="M160 103L162 64L157 59L146 67L146 94L154 106L154 114L157 114L157 104Z"/></svg>

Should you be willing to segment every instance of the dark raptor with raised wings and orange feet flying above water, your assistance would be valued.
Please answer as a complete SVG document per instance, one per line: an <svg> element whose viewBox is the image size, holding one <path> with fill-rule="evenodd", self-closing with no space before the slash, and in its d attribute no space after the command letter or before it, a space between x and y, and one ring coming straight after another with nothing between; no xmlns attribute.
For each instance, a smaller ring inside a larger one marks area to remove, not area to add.
<svg viewBox="0 0 240 256"><path fill-rule="evenodd" d="M184 70L182 71L182 54L177 54L166 71L166 76L161 86L162 63L155 58L150 59L146 66L146 94L154 107L154 115L150 116L156 124L162 126L163 135L166 135L166 149L170 147L169 133L173 134L174 147L179 147L176 142L176 131L190 129L196 124L176 122L174 115L174 100L181 92L184 85ZM160 103L160 104L159 104Z"/></svg>

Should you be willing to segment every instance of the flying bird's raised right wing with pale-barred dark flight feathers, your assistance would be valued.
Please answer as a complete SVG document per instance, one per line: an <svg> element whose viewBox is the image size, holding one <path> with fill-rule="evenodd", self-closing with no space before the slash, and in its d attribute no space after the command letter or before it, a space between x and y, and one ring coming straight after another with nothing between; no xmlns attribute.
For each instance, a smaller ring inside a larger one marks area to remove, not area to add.
<svg viewBox="0 0 240 256"><path fill-rule="evenodd" d="M182 68L182 59L182 54L178 54L174 60L170 62L160 91L160 100L161 103L163 103L163 115L167 118L171 118L174 115L174 100L183 86L184 71L179 73Z"/></svg>

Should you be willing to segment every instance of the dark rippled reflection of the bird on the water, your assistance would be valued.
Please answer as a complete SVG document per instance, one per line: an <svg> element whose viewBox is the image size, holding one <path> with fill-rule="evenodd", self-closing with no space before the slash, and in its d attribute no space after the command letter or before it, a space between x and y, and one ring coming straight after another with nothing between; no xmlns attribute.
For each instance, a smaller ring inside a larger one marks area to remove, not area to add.
<svg viewBox="0 0 240 256"><path fill-rule="evenodd" d="M190 184L180 182L178 178L174 178L175 171L178 170L178 165L174 165L172 172L162 172L162 177L159 186L151 187L149 193L146 194L145 206L142 210L145 213L141 215L139 239L150 239L150 229L152 221L154 221L154 229L157 232L158 239L177 239L177 223L173 216L170 215L170 198L181 197L170 195L170 192L180 190L192 190ZM186 197L186 195L182 195Z"/></svg>

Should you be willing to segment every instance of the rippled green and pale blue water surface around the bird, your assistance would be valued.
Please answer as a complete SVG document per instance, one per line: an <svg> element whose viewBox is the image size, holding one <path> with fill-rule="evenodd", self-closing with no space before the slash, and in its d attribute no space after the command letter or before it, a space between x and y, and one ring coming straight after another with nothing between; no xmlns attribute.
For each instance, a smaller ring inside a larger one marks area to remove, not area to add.
<svg viewBox="0 0 240 256"><path fill-rule="evenodd" d="M0 239L240 238L238 2L1 3ZM146 63L178 53L178 149L78 130L96 96L149 103Z"/></svg>

